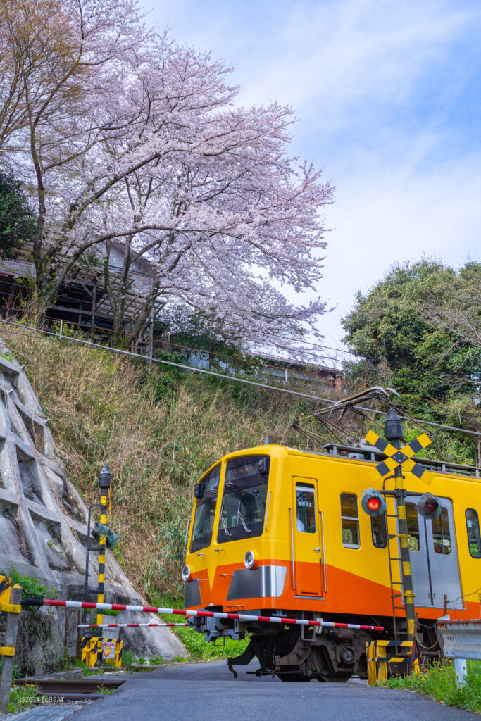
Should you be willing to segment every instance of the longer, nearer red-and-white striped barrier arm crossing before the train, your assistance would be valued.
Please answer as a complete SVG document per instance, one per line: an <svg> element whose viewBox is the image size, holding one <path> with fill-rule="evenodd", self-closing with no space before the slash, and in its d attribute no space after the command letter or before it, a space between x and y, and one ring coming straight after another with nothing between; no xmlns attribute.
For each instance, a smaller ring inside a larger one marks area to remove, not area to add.
<svg viewBox="0 0 481 721"><path fill-rule="evenodd" d="M296 626L326 626L340 629L360 629L362 631L384 631L383 626L365 626L363 624L338 624L332 621L310 621L308 619L286 619L284 616L250 616L250 614L226 614L222 611L192 611L191 609L160 609L156 606L125 606L123 603L94 603L93 601L57 601L56 599L38 599L37 605L63 606L67 609L99 609L102 611L132 611L146 614L171 614L178 616L200 616L211 619L232 619L234 621L260 621L272 624L295 624Z"/></svg>

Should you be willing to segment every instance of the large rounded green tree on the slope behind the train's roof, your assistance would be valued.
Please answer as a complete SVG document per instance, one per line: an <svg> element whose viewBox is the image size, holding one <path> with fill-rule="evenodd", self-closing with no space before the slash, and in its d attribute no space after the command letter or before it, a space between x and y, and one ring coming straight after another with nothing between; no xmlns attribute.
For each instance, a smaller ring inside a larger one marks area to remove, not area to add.
<svg viewBox="0 0 481 721"><path fill-rule="evenodd" d="M481 430L481 264L437 260L394 265L343 319L359 361L348 377L393 386L410 415ZM444 452L481 460L481 438L451 434ZM447 459L447 458L446 458Z"/></svg>

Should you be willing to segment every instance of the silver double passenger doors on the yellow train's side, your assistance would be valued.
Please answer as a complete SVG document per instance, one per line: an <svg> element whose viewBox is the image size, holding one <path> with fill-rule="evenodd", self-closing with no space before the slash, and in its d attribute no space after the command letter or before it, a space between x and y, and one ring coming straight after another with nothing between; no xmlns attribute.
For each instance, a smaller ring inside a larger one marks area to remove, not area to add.
<svg viewBox="0 0 481 721"><path fill-rule="evenodd" d="M462 590L454 529L453 505L441 498L441 516L433 521L418 513L419 497L406 502L407 531L410 534L412 585L416 606L442 609L444 596L449 608L462 609Z"/></svg>

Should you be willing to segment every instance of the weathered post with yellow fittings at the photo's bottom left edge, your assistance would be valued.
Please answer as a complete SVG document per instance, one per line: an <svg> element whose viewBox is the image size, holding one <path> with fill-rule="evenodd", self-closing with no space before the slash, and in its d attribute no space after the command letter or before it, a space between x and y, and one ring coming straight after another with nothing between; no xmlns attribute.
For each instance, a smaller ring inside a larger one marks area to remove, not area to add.
<svg viewBox="0 0 481 721"><path fill-rule="evenodd" d="M6 711L10 702L17 629L19 614L22 610L22 606L20 605L21 599L22 588L17 584L12 586L12 581L9 578L0 576L0 614L7 614L5 645L0 647L2 660L0 674L0 711Z"/></svg>

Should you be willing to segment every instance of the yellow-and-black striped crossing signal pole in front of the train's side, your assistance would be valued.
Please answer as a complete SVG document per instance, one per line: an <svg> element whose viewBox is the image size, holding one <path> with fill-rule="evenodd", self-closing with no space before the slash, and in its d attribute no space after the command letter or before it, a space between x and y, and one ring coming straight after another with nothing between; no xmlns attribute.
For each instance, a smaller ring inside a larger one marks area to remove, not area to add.
<svg viewBox="0 0 481 721"><path fill-rule="evenodd" d="M386 428L384 435L387 441L391 441L394 448L401 448L401 442L404 440L404 431L402 430L402 421L397 415L395 408L389 408L387 412ZM402 596L404 597L404 606L407 623L407 640L413 641L415 634L415 593L412 590L411 575L411 559L409 552L409 535L407 533L406 518L406 491L404 487L404 476L402 475L402 467L396 466L394 469L395 497L397 505L397 521L400 539L400 558L402 570Z"/></svg>

